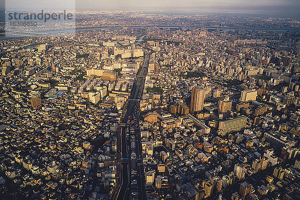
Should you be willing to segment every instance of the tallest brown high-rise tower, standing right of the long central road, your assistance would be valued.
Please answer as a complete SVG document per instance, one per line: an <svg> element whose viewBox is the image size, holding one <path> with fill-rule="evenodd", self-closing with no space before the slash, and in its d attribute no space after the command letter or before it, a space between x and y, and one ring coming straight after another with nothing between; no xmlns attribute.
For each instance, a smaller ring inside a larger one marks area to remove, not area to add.
<svg viewBox="0 0 300 200"><path fill-rule="evenodd" d="M191 99L190 99L190 111L194 113L195 111L201 111L203 109L205 98L205 89L200 87L193 87L191 89Z"/></svg>

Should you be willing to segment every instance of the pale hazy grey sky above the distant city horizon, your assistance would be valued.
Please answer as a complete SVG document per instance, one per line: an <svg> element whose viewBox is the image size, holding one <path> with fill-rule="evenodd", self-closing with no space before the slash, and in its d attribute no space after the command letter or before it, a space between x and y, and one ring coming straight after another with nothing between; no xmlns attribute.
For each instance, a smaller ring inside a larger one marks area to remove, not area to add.
<svg viewBox="0 0 300 200"><path fill-rule="evenodd" d="M0 0L1 1L1 0ZM9 6L8 6L9 5ZM300 15L300 0L6 0L7 7L135 9ZM58 6L58 7L57 7Z"/></svg>

